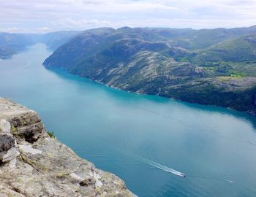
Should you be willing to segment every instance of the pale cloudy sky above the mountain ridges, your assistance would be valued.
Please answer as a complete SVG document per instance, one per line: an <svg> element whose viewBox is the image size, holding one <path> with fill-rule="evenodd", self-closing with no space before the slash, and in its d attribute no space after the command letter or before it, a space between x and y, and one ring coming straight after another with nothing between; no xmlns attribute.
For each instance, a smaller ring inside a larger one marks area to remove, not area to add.
<svg viewBox="0 0 256 197"><path fill-rule="evenodd" d="M256 0L0 0L0 31L256 25Z"/></svg>

